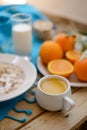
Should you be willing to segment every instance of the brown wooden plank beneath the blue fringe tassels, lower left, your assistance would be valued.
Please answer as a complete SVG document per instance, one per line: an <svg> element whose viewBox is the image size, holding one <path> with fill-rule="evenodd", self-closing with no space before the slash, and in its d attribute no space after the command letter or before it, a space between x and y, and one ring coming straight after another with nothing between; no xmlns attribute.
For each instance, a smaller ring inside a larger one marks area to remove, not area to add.
<svg viewBox="0 0 87 130"><path fill-rule="evenodd" d="M28 95L28 98L31 98L31 95ZM26 117L28 120L26 123L30 122L32 119L36 118L40 114L44 112L43 109L41 109L36 103L34 104L29 104L26 103L25 101L21 101L20 103L17 104L17 108L21 110L27 110L30 109L32 110L33 114L31 115L26 115L25 113L17 113L11 110L9 112L10 116L22 119ZM13 121L11 119L5 118L2 121L0 121L0 130L15 130L18 127L21 127L22 125L25 125L26 123L19 123L17 121ZM9 124L9 125L8 125Z"/></svg>

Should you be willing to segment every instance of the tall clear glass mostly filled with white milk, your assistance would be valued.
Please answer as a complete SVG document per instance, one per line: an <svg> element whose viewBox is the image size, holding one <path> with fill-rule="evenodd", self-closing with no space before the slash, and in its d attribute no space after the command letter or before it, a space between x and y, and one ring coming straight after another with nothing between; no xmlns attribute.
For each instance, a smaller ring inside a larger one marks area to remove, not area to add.
<svg viewBox="0 0 87 130"><path fill-rule="evenodd" d="M15 53L31 59L32 17L30 14L17 13L12 16L12 35Z"/></svg>

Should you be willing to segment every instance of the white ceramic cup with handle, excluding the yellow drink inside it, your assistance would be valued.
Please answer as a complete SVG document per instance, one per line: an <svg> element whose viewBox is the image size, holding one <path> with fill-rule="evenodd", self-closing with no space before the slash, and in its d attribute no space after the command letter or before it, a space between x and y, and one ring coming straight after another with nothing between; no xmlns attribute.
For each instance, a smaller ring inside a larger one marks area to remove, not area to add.
<svg viewBox="0 0 87 130"><path fill-rule="evenodd" d="M67 89L60 94L51 94L43 91L41 89L42 82L52 78L58 79L58 81L62 81L66 85ZM37 103L46 110L62 110L64 113L70 111L75 105L73 99L71 98L71 87L69 81L64 77L57 75L47 75L38 81L36 89L36 100Z"/></svg>

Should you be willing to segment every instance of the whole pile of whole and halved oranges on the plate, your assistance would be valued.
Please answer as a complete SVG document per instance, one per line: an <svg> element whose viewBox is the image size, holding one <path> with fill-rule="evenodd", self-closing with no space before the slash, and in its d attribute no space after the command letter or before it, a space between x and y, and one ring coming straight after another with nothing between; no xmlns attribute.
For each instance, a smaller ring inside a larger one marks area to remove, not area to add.
<svg viewBox="0 0 87 130"><path fill-rule="evenodd" d="M40 58L50 74L69 77L73 72L81 81L87 81L87 58L80 60L82 52L74 49L75 36L59 34L53 41L45 41Z"/></svg>

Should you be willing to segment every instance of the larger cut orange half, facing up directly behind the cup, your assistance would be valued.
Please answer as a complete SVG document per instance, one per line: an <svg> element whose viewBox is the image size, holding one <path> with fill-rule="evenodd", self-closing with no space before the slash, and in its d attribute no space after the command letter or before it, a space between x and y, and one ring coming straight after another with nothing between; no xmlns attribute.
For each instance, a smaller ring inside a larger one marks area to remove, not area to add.
<svg viewBox="0 0 87 130"><path fill-rule="evenodd" d="M69 77L74 71L72 63L65 59L52 60L48 63L47 68L51 74L61 75L64 77Z"/></svg>

